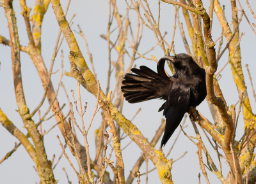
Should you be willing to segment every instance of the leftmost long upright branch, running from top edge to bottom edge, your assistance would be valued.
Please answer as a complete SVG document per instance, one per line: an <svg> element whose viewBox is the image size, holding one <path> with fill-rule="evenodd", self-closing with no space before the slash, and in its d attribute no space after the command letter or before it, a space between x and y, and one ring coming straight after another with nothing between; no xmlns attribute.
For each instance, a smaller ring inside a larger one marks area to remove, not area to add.
<svg viewBox="0 0 256 184"><path fill-rule="evenodd" d="M29 115L29 108L26 106L26 100L24 96L24 91L22 87L22 77L20 70L20 45L19 45L19 35L17 29L17 22L15 17L15 11L13 10L12 1L2 0L6 18L8 20L8 27L11 38L12 46L12 67L13 67L13 83L15 88L15 96L17 101L17 106L19 108L19 114L26 127L28 134L31 136L33 143L35 145L35 151L37 156L36 167L40 176L42 183L55 183L54 174L51 168L51 162L47 160L47 155L44 148L44 141L42 136L35 129L35 122L31 119Z"/></svg>

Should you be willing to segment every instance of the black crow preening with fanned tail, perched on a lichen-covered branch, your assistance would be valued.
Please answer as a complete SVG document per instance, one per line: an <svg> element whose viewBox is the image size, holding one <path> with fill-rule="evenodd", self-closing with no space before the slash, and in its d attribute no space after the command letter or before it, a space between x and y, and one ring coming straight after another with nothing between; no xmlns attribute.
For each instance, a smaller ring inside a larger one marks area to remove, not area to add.
<svg viewBox="0 0 256 184"><path fill-rule="evenodd" d="M173 63L175 74L168 77L164 63ZM206 97L205 70L198 66L186 53L164 56L157 64L157 73L147 66L132 68L132 73L124 76L121 87L125 100L129 103L140 103L150 99L164 99L159 108L166 118L161 148L166 145L173 132L179 126L184 114L190 107L196 107Z"/></svg>

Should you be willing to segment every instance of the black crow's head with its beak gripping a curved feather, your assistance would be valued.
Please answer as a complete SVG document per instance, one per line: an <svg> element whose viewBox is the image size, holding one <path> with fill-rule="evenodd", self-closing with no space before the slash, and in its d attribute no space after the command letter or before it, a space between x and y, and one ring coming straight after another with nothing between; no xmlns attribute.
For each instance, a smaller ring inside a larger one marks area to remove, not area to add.
<svg viewBox="0 0 256 184"><path fill-rule="evenodd" d="M170 60L176 70L185 70L187 73L193 73L193 70L199 67L193 58L186 53L179 53L173 56L164 56L162 59Z"/></svg>

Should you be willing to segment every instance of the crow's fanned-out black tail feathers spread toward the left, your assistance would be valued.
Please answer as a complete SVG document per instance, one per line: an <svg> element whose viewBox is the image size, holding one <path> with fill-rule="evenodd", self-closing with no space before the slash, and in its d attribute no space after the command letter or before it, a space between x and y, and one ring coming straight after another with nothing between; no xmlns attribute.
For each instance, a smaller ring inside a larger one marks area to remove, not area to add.
<svg viewBox="0 0 256 184"><path fill-rule="evenodd" d="M124 81L122 81L124 86L121 87L129 103L140 103L162 97L159 93L159 85L166 80L165 73L165 76L162 76L147 66L140 66L140 69L132 68L131 71L135 74L125 74Z"/></svg>

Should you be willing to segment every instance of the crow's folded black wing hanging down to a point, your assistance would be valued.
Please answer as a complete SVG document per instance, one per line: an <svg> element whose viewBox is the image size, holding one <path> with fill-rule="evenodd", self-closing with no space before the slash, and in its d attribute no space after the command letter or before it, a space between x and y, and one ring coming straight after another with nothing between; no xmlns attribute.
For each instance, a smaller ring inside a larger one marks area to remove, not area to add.
<svg viewBox="0 0 256 184"><path fill-rule="evenodd" d="M180 83L177 79L170 91L170 95L164 105L164 116L166 118L166 125L164 129L164 136L161 142L161 148L172 136L173 132L179 126L184 114L188 110L190 96L189 85Z"/></svg>

